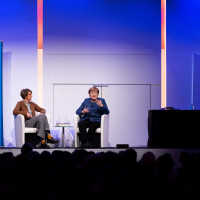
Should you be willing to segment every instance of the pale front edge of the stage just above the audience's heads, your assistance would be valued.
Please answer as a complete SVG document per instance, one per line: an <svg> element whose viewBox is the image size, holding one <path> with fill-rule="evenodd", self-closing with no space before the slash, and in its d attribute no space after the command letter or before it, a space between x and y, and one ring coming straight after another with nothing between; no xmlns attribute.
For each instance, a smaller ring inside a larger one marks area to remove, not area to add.
<svg viewBox="0 0 200 200"><path fill-rule="evenodd" d="M130 148L130 147L129 147ZM50 149L40 149L40 148L35 148L33 151L37 151L39 153L43 151L48 151L52 153L53 151L60 150L60 151L68 151L68 152L73 152L75 150L78 150L80 148L50 148ZM98 152L107 152L107 151L112 151L112 152L120 152L120 151L125 151L127 148L86 148L86 151L92 151L94 153ZM193 153L200 153L200 149L156 149L156 148L140 148L140 147L131 147L131 149L134 149L137 152L137 161L139 161L144 153L146 152L152 152L156 158L159 156L164 155L165 153L171 154L173 161L174 161L174 168L179 168L181 166L179 162L180 154L182 152L188 152L189 154ZM9 147L0 147L0 154L4 152L12 152L14 156L17 156L18 154L21 153L21 148L9 148Z"/></svg>

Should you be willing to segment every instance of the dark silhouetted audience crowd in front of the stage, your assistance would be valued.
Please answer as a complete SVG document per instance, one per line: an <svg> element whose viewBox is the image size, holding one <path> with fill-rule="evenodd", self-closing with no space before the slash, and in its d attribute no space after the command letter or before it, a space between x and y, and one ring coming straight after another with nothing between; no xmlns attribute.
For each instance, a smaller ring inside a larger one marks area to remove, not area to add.
<svg viewBox="0 0 200 200"><path fill-rule="evenodd" d="M24 144L21 153L0 154L0 199L87 199L131 196L185 198L200 189L200 153L180 154L175 169L169 153L146 152L137 161L133 148L119 152L76 149L39 153Z"/></svg>

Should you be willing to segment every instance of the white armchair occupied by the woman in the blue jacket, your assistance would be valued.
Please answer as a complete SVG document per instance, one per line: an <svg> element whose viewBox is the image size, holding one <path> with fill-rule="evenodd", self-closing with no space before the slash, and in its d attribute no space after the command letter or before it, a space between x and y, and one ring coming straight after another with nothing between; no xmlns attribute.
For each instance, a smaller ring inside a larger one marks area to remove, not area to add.
<svg viewBox="0 0 200 200"><path fill-rule="evenodd" d="M110 115L102 115L101 116L101 126L100 128L96 129L97 134L101 134L100 136L100 147L108 147L108 135L109 135L109 117ZM75 147L80 146L79 142L79 128L78 128L78 121L80 116L75 114L74 115L74 139L75 139Z"/></svg>

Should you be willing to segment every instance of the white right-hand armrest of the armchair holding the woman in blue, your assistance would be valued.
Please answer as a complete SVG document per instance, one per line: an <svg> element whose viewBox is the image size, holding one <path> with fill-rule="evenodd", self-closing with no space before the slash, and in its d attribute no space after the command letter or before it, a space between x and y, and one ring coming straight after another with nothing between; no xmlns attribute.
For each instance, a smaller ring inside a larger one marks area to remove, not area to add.
<svg viewBox="0 0 200 200"><path fill-rule="evenodd" d="M109 118L109 114L101 116L101 147L108 147Z"/></svg>

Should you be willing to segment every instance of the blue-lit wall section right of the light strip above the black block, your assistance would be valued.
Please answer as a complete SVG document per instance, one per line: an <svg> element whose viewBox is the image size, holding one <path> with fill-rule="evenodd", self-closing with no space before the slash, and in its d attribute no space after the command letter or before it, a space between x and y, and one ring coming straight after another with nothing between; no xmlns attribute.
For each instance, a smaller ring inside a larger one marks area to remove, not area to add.
<svg viewBox="0 0 200 200"><path fill-rule="evenodd" d="M167 1L167 106L191 108L192 58L200 53L199 10L197 0Z"/></svg>

